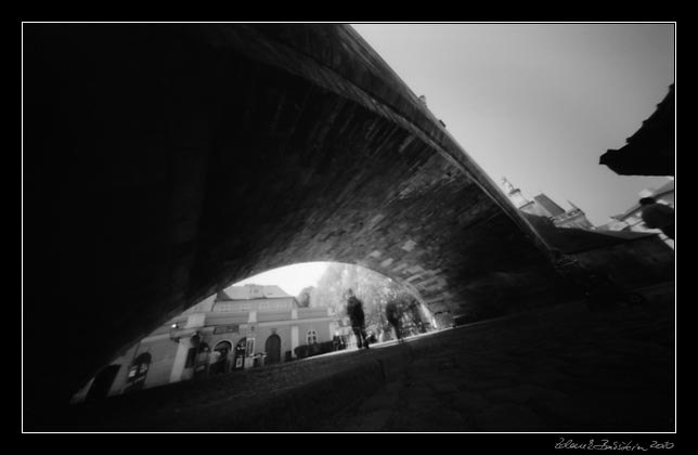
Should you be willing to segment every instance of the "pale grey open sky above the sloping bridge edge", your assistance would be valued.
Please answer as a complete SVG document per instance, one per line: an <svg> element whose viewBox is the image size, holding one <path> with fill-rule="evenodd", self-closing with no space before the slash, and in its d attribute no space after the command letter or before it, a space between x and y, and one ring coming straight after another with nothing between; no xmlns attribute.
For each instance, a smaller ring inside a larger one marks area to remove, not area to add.
<svg viewBox="0 0 698 455"><path fill-rule="evenodd" d="M674 82L674 24L352 24L495 183L595 224L662 177L598 164Z"/></svg>

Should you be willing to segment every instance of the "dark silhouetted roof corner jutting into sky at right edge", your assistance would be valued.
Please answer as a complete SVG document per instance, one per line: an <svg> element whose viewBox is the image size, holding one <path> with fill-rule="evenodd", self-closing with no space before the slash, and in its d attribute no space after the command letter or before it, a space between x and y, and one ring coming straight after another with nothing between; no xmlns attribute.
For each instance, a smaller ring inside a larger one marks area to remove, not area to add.
<svg viewBox="0 0 698 455"><path fill-rule="evenodd" d="M599 165L606 165L621 176L674 176L675 106L672 83L652 115L625 140L626 144L619 150L608 150L600 156Z"/></svg>

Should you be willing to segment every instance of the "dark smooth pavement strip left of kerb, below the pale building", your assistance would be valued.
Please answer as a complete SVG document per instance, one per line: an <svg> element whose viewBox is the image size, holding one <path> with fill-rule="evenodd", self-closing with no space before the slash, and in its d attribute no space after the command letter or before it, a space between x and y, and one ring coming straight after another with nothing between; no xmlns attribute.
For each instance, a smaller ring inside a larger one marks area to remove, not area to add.
<svg viewBox="0 0 698 455"><path fill-rule="evenodd" d="M397 377L405 346L338 351L83 403L39 431L310 431Z"/></svg>

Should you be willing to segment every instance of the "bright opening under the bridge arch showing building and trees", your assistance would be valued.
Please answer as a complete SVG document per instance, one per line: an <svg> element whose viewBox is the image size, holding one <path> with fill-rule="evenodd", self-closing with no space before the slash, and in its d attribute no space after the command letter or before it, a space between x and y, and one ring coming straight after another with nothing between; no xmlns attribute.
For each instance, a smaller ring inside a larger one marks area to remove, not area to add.
<svg viewBox="0 0 698 455"><path fill-rule="evenodd" d="M363 302L373 343L398 339L387 307L400 309L402 337L434 332L437 321L417 292L367 268L303 262L272 269L220 289L139 340L114 363L148 355L153 388L356 349L346 292ZM312 334L312 336L309 336ZM233 349L233 347L235 347ZM131 390L117 377L109 395Z"/></svg>

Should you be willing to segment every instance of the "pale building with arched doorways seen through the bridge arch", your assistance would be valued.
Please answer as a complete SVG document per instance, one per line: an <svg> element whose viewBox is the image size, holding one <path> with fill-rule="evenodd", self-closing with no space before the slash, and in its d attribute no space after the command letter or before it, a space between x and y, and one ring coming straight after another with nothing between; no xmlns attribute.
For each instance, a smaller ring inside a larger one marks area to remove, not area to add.
<svg viewBox="0 0 698 455"><path fill-rule="evenodd" d="M184 311L103 368L74 402L293 360L332 341L328 307L299 308L279 286L232 286Z"/></svg>

